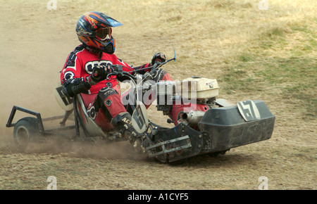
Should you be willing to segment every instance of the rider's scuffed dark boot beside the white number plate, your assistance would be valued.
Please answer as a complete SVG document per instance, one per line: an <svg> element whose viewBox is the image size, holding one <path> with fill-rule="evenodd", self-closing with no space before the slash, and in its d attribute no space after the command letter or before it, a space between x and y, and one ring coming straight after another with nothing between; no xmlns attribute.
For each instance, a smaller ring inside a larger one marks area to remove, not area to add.
<svg viewBox="0 0 317 204"><path fill-rule="evenodd" d="M147 139L144 134L139 134L133 127L131 122L131 115L128 112L119 113L111 120L111 124L116 130L130 141L130 144L135 147L137 151L145 152L147 146Z"/></svg>

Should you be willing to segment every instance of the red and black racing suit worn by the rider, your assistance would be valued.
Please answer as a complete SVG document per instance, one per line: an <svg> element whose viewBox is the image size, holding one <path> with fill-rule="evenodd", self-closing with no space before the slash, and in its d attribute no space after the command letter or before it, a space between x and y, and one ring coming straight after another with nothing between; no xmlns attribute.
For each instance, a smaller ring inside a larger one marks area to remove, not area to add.
<svg viewBox="0 0 317 204"><path fill-rule="evenodd" d="M104 52L95 53L86 49L85 46L80 45L68 55L63 70L61 70L61 83L63 84L68 79L76 78L82 78L87 82L95 66L106 65L108 63L123 65L123 70L126 72L149 67L149 63L147 63L133 68L114 54ZM170 80L170 76L165 70L160 70L160 72L157 80ZM111 76L108 80L105 79L92 85L86 93L81 94L87 108L87 113L105 132L113 129L113 125L111 125L113 118L120 113L127 112L127 107L121 103L120 94L120 87L116 76Z"/></svg>

